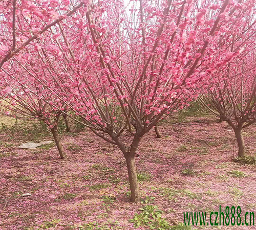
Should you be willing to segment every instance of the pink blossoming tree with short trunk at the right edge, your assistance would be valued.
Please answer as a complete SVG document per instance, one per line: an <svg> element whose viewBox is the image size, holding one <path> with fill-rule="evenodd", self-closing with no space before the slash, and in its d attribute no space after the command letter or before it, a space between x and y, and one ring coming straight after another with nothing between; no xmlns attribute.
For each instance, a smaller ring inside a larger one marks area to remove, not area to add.
<svg viewBox="0 0 256 230"><path fill-rule="evenodd" d="M214 86L200 97L208 111L234 130L238 156L244 156L246 150L242 129L256 122L255 58L254 53L249 53L243 59L234 59L225 71L217 74Z"/></svg>

